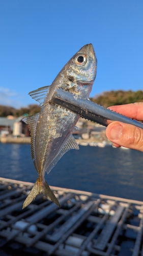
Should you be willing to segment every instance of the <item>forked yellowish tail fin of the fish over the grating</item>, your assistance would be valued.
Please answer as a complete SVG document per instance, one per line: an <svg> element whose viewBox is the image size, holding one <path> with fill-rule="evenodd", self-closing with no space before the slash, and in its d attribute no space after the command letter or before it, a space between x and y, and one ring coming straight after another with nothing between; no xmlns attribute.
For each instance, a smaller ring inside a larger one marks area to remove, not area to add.
<svg viewBox="0 0 143 256"><path fill-rule="evenodd" d="M25 208L28 204L30 204L36 198L36 196L38 196L41 193L43 193L47 197L47 199L51 200L52 202L60 206L58 199L53 194L45 179L43 179L43 181L41 182L40 177L38 177L32 190L30 191L30 194L28 194L28 196L26 197L22 209Z"/></svg>

